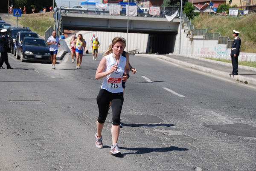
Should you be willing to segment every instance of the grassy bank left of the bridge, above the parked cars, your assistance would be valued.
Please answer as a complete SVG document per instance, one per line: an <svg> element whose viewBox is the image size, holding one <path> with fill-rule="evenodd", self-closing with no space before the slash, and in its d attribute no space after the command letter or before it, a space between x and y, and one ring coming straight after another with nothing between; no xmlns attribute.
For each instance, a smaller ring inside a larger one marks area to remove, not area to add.
<svg viewBox="0 0 256 171"><path fill-rule="evenodd" d="M16 23L17 17L9 17ZM18 17L18 23L22 26L29 27L31 31L36 32L40 36L44 37L44 32L52 26L54 28L53 12L25 14L22 17Z"/></svg>

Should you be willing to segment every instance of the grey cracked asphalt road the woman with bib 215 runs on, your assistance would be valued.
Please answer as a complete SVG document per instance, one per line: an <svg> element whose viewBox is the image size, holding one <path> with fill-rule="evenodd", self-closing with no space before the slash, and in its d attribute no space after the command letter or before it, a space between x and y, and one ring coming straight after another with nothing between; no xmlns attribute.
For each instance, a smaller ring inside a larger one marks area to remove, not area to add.
<svg viewBox="0 0 256 171"><path fill-rule="evenodd" d="M66 55L54 70L9 54L15 69L0 70L0 170L255 170L256 87L149 57L130 57L137 73L125 88L122 155L109 153L111 110L96 148L100 56L84 54L78 70Z"/></svg>

